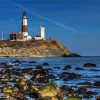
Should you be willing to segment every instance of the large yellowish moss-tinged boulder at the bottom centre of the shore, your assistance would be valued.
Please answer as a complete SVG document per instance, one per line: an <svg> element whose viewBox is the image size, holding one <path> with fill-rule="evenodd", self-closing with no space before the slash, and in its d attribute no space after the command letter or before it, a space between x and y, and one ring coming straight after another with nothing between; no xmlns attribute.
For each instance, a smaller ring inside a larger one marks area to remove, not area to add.
<svg viewBox="0 0 100 100"><path fill-rule="evenodd" d="M41 86L38 90L39 98L43 100L62 100L63 94L61 93L60 88L53 82L47 83L44 86Z"/></svg>

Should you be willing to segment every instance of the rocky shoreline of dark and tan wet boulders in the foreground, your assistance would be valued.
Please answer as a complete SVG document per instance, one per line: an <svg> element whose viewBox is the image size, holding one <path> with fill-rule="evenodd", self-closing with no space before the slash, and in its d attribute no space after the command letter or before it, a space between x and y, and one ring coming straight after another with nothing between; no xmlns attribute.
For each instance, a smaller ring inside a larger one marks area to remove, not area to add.
<svg viewBox="0 0 100 100"><path fill-rule="evenodd" d="M89 91L88 87L94 88L100 87L100 81L95 83L80 82L78 85L82 85L74 89L68 85L57 86L52 79L57 77L64 81L80 79L85 76L72 73L69 69L72 69L71 65L64 67L64 72L59 75L54 75L50 71L52 68L46 68L49 66L48 62L38 65L36 61L27 62L28 64L35 65L35 68L19 68L19 65L23 66L23 63L27 61L15 60L13 62L1 62L0 63L0 98L3 100L82 100L86 98L90 100L93 95L97 95L97 92ZM96 67L96 64L86 63L84 67ZM56 67L59 69L59 67ZM75 70L84 70L77 67ZM100 100L100 96L95 97L96 100Z"/></svg>

